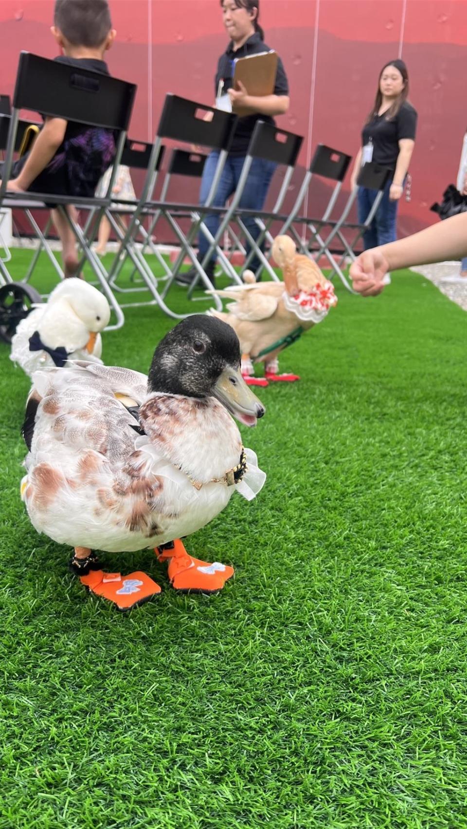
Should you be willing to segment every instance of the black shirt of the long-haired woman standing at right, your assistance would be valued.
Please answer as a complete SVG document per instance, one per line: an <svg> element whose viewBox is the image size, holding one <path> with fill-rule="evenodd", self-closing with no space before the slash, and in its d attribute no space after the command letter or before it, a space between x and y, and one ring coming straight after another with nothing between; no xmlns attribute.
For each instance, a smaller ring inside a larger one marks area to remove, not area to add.
<svg viewBox="0 0 467 829"><path fill-rule="evenodd" d="M383 113L375 115L365 124L362 129L362 146L372 138L372 161L382 164L383 167L395 169L401 138L411 138L415 141L416 119L416 109L404 101L394 118L387 119Z"/></svg>

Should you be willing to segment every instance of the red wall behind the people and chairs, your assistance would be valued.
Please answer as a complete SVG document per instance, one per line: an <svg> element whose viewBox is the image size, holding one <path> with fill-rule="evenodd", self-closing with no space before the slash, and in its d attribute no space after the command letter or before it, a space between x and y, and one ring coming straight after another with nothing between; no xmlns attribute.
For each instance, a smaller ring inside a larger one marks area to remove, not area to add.
<svg viewBox="0 0 467 829"><path fill-rule="evenodd" d="M0 2L0 92L12 92L20 50L56 55L53 6L53 0ZM153 138L166 92L212 104L216 60L226 47L219 0L110 0L110 6L117 30L110 71L138 84L132 138ZM406 61L419 129L400 234L435 221L428 208L455 182L467 127L467 0L261 0L260 20L289 75L290 109L279 123L305 136L302 174L316 143L357 152L379 70L396 56ZM192 197L186 185L183 196ZM324 196L323 187L310 192L310 211L319 212Z"/></svg>

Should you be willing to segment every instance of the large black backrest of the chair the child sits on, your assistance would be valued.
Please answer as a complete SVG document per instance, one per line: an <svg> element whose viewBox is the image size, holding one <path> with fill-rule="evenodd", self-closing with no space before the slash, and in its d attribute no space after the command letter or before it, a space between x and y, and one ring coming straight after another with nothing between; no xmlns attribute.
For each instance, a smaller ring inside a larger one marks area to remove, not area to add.
<svg viewBox="0 0 467 829"><path fill-rule="evenodd" d="M126 80L22 51L13 107L123 132L135 92L136 85Z"/></svg>

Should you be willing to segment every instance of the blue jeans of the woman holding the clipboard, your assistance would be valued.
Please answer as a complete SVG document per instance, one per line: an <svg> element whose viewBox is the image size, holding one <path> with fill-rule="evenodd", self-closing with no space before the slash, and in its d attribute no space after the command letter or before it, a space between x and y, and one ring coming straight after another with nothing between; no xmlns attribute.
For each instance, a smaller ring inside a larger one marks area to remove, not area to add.
<svg viewBox="0 0 467 829"><path fill-rule="evenodd" d="M214 173L216 172L218 160L219 153L213 151L208 156L207 162L204 165L204 170L202 173L201 191L199 196L200 204L202 205L205 204L207 196L209 195L209 191L211 190L212 179L214 178ZM214 200L212 201L213 207L223 207L226 204L227 199L232 195L232 193L235 193L236 187L241 176L241 168L243 167L244 162L245 156L229 156L227 158L226 166L222 171L219 187L217 187L216 196L214 196ZM265 198L270 186L271 178L273 177L275 171L275 167L275 162L263 161L261 158L253 159L253 162L250 167L250 172L248 174L248 178L246 179L245 189L241 194L241 200L239 203L240 208L244 207L246 210L257 211L263 209L263 205L265 203ZM204 223L207 226L207 229L212 233L212 235L215 236L221 223L221 220L219 216L213 216L212 214L208 214L204 219ZM258 225L256 224L253 216L245 217L244 223L248 231L251 233L253 239L257 239L261 231ZM199 258L200 260L202 260L206 255L207 249L209 247L209 242L202 232L198 237L198 244ZM246 244L247 254L249 250L250 247L248 244ZM215 254L213 255L212 259L213 261L216 260ZM254 272L260 267L260 259L258 259L257 256L254 256L253 259L251 259L250 267L251 270Z"/></svg>

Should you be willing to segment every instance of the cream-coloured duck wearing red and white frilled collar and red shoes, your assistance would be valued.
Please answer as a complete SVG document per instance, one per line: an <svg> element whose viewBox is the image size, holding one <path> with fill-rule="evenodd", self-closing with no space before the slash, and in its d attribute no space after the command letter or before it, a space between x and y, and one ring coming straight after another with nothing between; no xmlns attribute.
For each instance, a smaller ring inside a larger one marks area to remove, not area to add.
<svg viewBox="0 0 467 829"><path fill-rule="evenodd" d="M294 240L277 236L272 255L282 269L284 282L255 282L246 271L247 284L210 291L234 299L229 313L208 312L228 322L241 344L241 373L249 385L268 385L270 381L291 382L298 375L279 374L280 351L309 328L322 322L329 308L338 301L333 285L308 256L298 255ZM265 363L265 378L255 377L253 363Z"/></svg>

